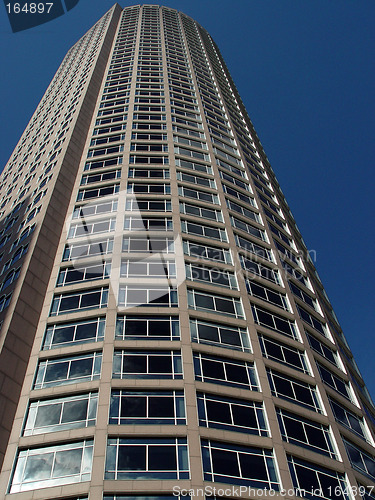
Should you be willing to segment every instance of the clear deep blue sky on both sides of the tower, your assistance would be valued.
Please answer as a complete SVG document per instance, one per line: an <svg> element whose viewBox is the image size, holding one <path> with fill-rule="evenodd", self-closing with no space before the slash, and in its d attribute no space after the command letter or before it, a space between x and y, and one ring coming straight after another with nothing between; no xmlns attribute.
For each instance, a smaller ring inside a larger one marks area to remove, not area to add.
<svg viewBox="0 0 375 500"><path fill-rule="evenodd" d="M80 0L15 34L0 8L1 169L68 48L113 3ZM374 0L147 3L185 12L219 45L375 398Z"/></svg>

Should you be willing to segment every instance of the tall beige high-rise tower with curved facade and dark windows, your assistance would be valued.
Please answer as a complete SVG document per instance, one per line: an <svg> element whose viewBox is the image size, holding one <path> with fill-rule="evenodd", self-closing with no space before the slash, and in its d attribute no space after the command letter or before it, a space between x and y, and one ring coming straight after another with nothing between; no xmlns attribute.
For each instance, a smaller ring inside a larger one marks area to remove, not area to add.
<svg viewBox="0 0 375 500"><path fill-rule="evenodd" d="M1 498L375 498L373 403L193 19L115 5L1 194Z"/></svg>

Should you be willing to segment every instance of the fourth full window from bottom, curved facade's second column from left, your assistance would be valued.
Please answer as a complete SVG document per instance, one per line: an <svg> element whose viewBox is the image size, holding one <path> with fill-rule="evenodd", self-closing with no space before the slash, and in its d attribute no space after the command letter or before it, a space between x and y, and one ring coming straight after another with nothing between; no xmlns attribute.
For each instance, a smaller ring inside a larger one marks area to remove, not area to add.
<svg viewBox="0 0 375 500"><path fill-rule="evenodd" d="M116 339L180 340L177 316L117 316Z"/></svg>

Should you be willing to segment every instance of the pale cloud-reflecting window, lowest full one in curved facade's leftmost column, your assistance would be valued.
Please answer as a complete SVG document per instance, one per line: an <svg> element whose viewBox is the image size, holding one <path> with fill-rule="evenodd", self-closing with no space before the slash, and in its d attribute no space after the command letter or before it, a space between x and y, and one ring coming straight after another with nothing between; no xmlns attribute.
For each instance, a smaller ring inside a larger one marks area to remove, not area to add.
<svg viewBox="0 0 375 500"><path fill-rule="evenodd" d="M92 440L20 451L10 493L89 481L92 451Z"/></svg>

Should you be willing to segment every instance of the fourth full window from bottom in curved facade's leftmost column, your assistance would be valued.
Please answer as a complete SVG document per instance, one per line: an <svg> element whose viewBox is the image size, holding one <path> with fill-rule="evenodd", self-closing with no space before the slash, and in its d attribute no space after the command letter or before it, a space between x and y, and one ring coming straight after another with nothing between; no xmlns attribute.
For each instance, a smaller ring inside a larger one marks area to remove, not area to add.
<svg viewBox="0 0 375 500"><path fill-rule="evenodd" d="M104 338L105 318L47 326L43 349L54 349L82 342L99 342Z"/></svg>

